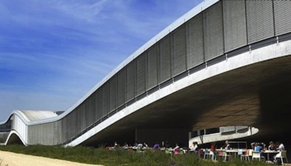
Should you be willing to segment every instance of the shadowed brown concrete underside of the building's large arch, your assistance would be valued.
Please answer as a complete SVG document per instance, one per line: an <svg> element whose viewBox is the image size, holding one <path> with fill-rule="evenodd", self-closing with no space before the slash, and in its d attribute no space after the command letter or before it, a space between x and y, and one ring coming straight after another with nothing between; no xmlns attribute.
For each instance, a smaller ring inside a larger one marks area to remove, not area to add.
<svg viewBox="0 0 291 166"><path fill-rule="evenodd" d="M148 137L156 137L160 141L158 135L168 137L180 129L185 133L183 137L188 138L186 131L238 125L259 128L259 133L252 136L255 140L289 143L290 83L291 56L241 67L164 97L82 144L130 143L136 140L139 130L153 129ZM167 134L166 131L171 130L175 132ZM291 147L291 144L287 146Z"/></svg>

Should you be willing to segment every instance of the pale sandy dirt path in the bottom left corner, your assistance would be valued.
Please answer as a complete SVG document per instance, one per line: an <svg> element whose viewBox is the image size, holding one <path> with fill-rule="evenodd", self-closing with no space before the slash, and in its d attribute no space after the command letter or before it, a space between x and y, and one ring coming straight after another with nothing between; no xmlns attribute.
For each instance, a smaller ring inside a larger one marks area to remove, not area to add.
<svg viewBox="0 0 291 166"><path fill-rule="evenodd" d="M2 163L1 163L2 161ZM53 165L72 165L72 166L87 166L90 164L76 163L66 160L52 159L39 156L31 156L8 151L0 151L0 165L1 166L53 166Z"/></svg>

